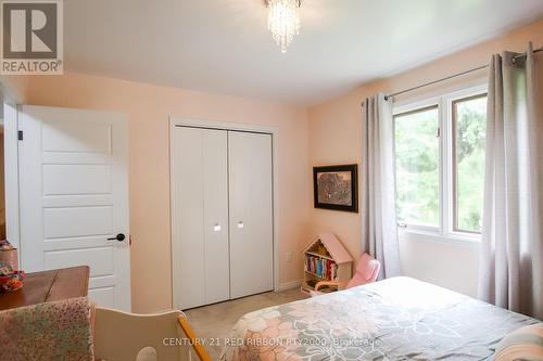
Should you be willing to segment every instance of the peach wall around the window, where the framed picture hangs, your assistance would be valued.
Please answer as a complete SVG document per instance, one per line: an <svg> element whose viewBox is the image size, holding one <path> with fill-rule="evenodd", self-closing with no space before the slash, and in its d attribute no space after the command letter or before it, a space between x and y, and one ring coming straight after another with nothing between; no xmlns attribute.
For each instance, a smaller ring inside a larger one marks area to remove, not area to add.
<svg viewBox="0 0 543 361"><path fill-rule="evenodd" d="M427 81L488 64L493 53L504 50L525 51L528 41L543 46L543 22L516 29L467 50L439 59L429 64L379 81L362 86L325 104L310 109L311 164L361 164L362 117L361 102L376 92L391 93ZM416 46L414 47L416 51ZM438 87L427 88L396 99L405 101L422 94L453 89L462 82L487 77L482 70ZM324 146L326 144L326 146ZM333 231L351 254L361 254L361 217L321 209L311 210L312 233ZM477 291L478 245L444 244L426 238L401 240L401 261L406 275L427 280L465 294ZM459 262L463 265L458 270Z"/></svg>

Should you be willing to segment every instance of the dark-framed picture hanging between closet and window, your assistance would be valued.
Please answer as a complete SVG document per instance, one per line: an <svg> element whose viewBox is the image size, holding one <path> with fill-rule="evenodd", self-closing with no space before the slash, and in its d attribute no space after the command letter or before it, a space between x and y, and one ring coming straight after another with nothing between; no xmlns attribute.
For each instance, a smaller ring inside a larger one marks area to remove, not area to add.
<svg viewBox="0 0 543 361"><path fill-rule="evenodd" d="M313 168L315 208L358 212L357 165Z"/></svg>

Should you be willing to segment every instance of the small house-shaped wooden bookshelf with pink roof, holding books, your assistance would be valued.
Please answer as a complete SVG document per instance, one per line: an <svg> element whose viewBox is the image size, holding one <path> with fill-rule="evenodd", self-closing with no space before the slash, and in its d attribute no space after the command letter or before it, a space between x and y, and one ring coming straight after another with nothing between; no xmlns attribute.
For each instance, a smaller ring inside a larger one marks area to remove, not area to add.
<svg viewBox="0 0 543 361"><path fill-rule="evenodd" d="M319 281L349 282L353 258L332 233L321 233L304 249L302 292L315 289Z"/></svg>

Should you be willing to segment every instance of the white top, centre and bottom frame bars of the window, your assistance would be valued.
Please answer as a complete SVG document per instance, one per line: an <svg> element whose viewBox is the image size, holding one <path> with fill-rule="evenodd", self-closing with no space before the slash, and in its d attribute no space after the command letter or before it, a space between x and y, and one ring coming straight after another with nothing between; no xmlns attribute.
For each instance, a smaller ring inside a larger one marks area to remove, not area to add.
<svg viewBox="0 0 543 361"><path fill-rule="evenodd" d="M481 235L473 232L454 230L454 175L453 175L453 103L465 98L482 95L488 92L488 85L466 87L445 94L430 96L425 100L404 103L394 106L393 116L414 112L430 106L438 106L438 126L440 129L440 221L438 227L416 224L399 224L399 233L404 237L427 238L430 241L446 241L459 244L477 244ZM395 169L395 168L394 168ZM394 177L395 179L395 177Z"/></svg>

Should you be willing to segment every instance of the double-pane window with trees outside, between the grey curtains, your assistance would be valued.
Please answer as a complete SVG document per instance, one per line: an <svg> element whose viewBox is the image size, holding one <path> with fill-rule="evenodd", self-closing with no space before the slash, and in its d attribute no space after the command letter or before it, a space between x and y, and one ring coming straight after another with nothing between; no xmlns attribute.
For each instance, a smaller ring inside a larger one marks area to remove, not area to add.
<svg viewBox="0 0 543 361"><path fill-rule="evenodd" d="M400 227L445 238L480 233L485 131L484 87L394 109Z"/></svg>

